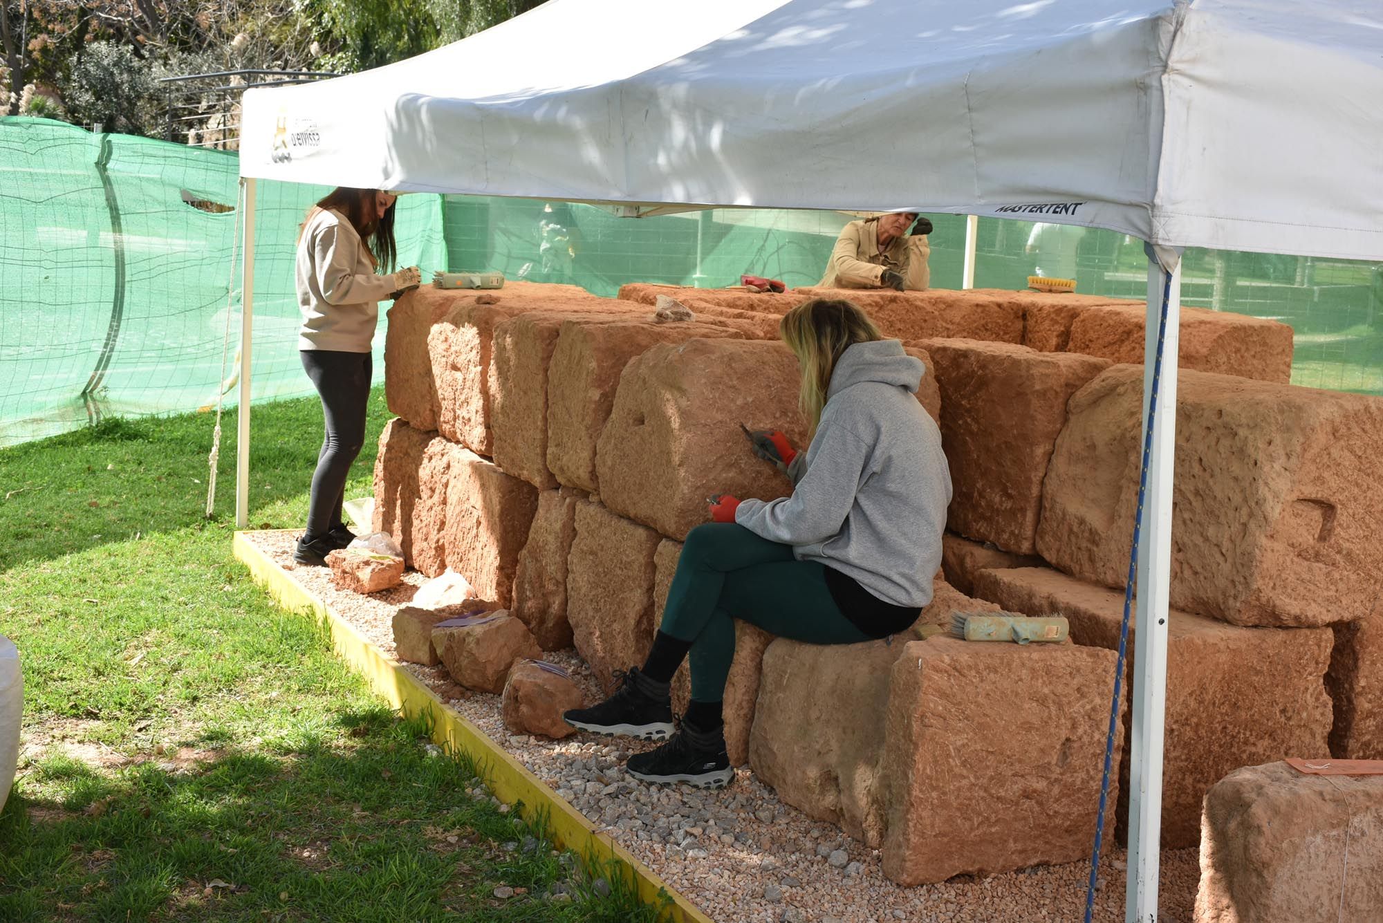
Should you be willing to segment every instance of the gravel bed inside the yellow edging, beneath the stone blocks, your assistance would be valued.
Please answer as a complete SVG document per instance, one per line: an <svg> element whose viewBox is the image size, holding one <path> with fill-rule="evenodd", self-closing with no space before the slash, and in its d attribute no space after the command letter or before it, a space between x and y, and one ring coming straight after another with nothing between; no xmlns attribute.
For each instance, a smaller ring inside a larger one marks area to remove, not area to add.
<svg viewBox="0 0 1383 923"><path fill-rule="evenodd" d="M337 590L324 568L295 567L296 533L260 532L250 539L393 656L390 619L425 576L409 571L401 586L364 597ZM575 651L545 656L570 669L588 701L597 701L595 680ZM629 753L651 745L609 745L603 738L579 735L566 741L516 736L499 719L498 695L465 689L440 667L408 663L405 669L714 920L1066 923L1083 916L1088 864L899 887L884 877L877 850L781 804L745 768L737 770L734 783L721 792L644 786L624 772L622 763ZM1122 923L1124 851L1113 850L1101 865L1104 884L1095 919ZM1195 850L1163 853L1162 923L1191 923L1198 882Z"/></svg>

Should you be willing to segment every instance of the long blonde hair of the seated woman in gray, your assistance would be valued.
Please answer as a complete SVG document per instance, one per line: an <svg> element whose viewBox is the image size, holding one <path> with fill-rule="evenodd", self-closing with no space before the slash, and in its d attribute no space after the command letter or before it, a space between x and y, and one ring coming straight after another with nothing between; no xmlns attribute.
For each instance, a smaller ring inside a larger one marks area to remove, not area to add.
<svg viewBox="0 0 1383 923"><path fill-rule="evenodd" d="M815 435L841 354L856 343L873 343L884 336L859 305L844 298L804 301L783 315L779 336L797 354L802 369L798 406Z"/></svg>

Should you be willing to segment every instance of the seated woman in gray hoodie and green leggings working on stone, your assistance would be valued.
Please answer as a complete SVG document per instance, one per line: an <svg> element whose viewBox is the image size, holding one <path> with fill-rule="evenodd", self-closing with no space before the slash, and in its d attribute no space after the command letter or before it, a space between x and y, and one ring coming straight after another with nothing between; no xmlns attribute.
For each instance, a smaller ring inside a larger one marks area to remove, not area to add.
<svg viewBox="0 0 1383 923"><path fill-rule="evenodd" d="M806 301L779 329L802 370L812 441L802 455L774 432L757 452L792 478L792 495L715 499L712 522L682 547L643 667L600 705L564 716L599 734L671 735L629 759L635 778L698 788L734 778L721 719L734 619L809 644L856 644L907 629L932 598L952 484L940 431L914 397L922 362L849 301ZM683 659L692 705L674 732L669 687Z"/></svg>

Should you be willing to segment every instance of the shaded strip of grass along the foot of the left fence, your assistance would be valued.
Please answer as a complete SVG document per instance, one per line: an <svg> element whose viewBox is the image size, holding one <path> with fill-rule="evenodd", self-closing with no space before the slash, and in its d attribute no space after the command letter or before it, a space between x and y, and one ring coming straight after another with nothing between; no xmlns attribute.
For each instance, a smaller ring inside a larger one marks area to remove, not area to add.
<svg viewBox="0 0 1383 923"><path fill-rule="evenodd" d="M368 477L390 413L384 391L369 398L369 424L353 477ZM250 508L306 495L322 439L317 398L256 405L250 439ZM216 520L206 513L214 417L109 419L100 426L0 449L0 572L30 561L188 526L227 532L235 508L236 413L221 419ZM260 526L263 522L252 522ZM299 522L270 522L290 528Z"/></svg>

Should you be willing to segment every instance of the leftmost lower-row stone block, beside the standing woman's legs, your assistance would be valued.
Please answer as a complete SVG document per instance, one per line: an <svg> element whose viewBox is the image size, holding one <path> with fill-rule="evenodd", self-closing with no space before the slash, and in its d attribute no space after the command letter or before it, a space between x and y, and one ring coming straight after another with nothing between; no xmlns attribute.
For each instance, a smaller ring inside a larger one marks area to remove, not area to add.
<svg viewBox="0 0 1383 923"><path fill-rule="evenodd" d="M436 576L447 569L447 482L451 445L431 434L390 420L379 437L375 459L376 532L389 532L404 560Z"/></svg>

